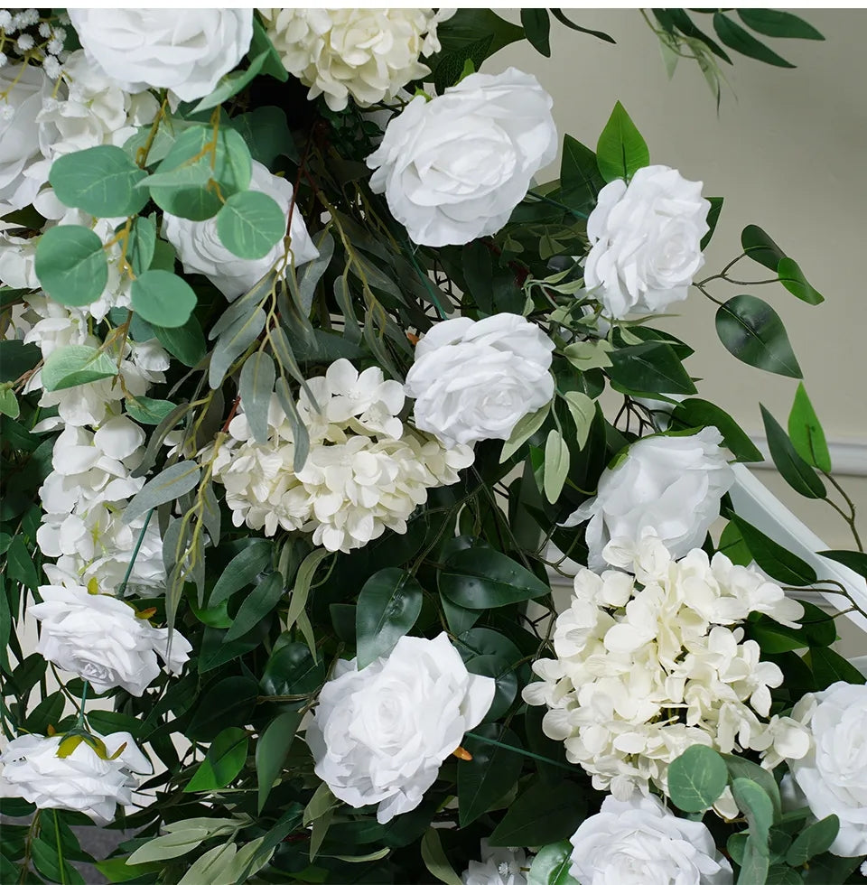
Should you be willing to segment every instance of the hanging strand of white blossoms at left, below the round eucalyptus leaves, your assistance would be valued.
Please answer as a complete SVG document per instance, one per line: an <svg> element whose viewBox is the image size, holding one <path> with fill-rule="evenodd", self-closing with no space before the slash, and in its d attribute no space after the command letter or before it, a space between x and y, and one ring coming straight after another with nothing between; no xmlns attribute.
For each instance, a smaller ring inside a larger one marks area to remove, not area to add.
<svg viewBox="0 0 867 885"><path fill-rule="evenodd" d="M17 325L26 343L42 350L42 359L69 345L98 347L89 331L89 313L68 308L45 295L34 295ZM144 517L123 522L123 508L144 485L130 472L141 461L144 431L122 414L125 396L144 396L163 381L168 355L156 340L127 340L117 378L57 391L42 391L40 405L56 405L58 415L44 419L36 432L62 428L51 454L51 473L42 488L42 526L37 542L42 554L56 558L45 573L56 584L88 584L112 592L123 582ZM42 388L42 372L33 373L25 392ZM165 580L163 545L157 526L148 525L127 588L159 586Z"/></svg>

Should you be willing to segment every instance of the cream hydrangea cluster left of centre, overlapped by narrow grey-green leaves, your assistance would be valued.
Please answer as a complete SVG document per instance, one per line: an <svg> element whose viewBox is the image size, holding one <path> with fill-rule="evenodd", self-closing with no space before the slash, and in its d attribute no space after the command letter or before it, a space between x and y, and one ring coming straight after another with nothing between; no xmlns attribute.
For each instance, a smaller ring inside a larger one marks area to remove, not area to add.
<svg viewBox="0 0 867 885"><path fill-rule="evenodd" d="M302 391L298 411L310 434L302 470L293 470L292 426L276 397L265 445L252 438L243 411L229 424L214 478L226 487L236 526L246 522L268 536L278 526L312 532L314 544L346 553L387 528L406 532L428 489L457 482L473 461L470 447L446 449L403 424L403 388L379 368L359 373L339 359L309 387L319 410Z"/></svg>

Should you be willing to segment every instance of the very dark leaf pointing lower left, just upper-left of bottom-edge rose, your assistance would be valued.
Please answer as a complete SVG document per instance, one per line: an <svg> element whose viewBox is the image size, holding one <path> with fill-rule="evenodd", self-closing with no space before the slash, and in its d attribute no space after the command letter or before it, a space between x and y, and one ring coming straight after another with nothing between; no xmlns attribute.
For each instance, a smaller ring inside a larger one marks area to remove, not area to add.
<svg viewBox="0 0 867 885"><path fill-rule="evenodd" d="M536 781L508 807L489 843L529 847L567 839L585 815L585 800L576 784Z"/></svg>

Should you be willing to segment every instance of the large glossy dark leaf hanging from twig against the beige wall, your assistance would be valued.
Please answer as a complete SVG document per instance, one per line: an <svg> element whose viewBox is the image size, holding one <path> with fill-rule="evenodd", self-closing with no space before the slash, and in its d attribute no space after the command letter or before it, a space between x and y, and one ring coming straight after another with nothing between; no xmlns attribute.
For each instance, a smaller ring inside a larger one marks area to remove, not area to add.
<svg viewBox="0 0 867 885"><path fill-rule="evenodd" d="M754 295L735 295L716 312L716 332L733 356L748 366L791 378L803 377L777 312Z"/></svg>

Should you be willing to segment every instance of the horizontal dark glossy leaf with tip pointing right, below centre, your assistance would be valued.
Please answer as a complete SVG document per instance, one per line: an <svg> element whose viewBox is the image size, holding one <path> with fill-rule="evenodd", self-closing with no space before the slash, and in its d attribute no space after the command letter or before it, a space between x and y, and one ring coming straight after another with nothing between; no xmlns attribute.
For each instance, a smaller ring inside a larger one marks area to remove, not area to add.
<svg viewBox="0 0 867 885"><path fill-rule="evenodd" d="M496 550L459 550L440 572L440 592L464 609L494 609L551 592L545 582Z"/></svg>

